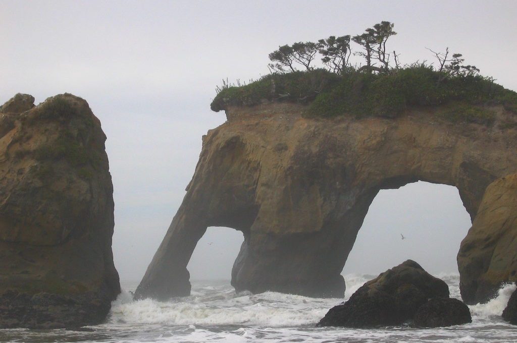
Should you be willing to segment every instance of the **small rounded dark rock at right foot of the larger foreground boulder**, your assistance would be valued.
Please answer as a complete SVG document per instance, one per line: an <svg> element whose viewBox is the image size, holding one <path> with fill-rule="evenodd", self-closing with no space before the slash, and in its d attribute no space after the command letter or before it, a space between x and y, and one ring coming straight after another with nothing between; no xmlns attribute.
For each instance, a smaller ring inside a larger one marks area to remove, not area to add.
<svg viewBox="0 0 517 343"><path fill-rule="evenodd" d="M415 314L414 324L423 328L452 326L472 323L470 310L461 300L434 298L420 306Z"/></svg>

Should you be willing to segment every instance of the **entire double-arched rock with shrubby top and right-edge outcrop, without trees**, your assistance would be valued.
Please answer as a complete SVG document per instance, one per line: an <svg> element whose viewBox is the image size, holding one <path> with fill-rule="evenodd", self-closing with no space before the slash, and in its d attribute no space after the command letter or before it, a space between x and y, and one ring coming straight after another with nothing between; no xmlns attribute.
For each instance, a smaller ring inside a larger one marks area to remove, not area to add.
<svg viewBox="0 0 517 343"><path fill-rule="evenodd" d="M189 294L186 266L208 226L244 233L236 290L343 297L340 273L373 198L418 180L457 187L473 220L458 255L464 301L485 301L517 279L515 93L468 77L443 91L422 66L326 75L272 74L219 93L212 110L227 121L203 137L137 298Z"/></svg>

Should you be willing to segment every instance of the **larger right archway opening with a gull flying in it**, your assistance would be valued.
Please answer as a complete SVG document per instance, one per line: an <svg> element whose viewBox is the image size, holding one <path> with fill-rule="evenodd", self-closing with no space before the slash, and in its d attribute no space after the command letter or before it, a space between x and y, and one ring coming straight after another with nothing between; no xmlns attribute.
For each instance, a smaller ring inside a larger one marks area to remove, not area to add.
<svg viewBox="0 0 517 343"><path fill-rule="evenodd" d="M458 189L452 186L419 181L381 190L341 274L377 275L406 259L432 274L458 273L460 243L471 225Z"/></svg>

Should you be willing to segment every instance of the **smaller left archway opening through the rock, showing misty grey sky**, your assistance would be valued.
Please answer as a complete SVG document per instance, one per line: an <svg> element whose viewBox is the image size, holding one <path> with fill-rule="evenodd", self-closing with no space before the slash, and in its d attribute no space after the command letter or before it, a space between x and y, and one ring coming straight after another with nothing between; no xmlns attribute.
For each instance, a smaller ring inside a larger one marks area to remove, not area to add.
<svg viewBox="0 0 517 343"><path fill-rule="evenodd" d="M209 227L197 242L187 264L190 280L225 280L244 241L242 232L229 227Z"/></svg>

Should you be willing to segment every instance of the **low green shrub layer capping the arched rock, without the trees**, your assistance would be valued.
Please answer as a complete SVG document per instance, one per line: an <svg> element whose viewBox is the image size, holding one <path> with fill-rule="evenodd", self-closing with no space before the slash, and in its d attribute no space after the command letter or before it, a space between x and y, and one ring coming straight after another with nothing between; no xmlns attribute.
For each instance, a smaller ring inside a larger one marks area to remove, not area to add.
<svg viewBox="0 0 517 343"><path fill-rule="evenodd" d="M441 81L440 81L441 80ZM494 114L484 105L503 105L517 113L517 93L480 75L445 77L432 66L415 65L390 74L323 69L273 73L244 86L225 86L210 104L212 111L228 106L253 106L264 101L309 104L307 116L395 118L407 108L447 105L440 116L452 122L490 125Z"/></svg>

